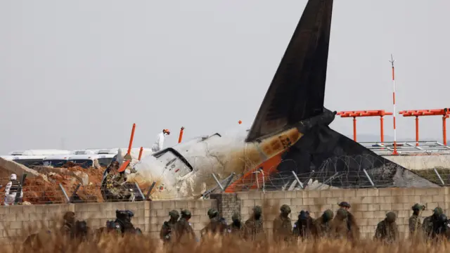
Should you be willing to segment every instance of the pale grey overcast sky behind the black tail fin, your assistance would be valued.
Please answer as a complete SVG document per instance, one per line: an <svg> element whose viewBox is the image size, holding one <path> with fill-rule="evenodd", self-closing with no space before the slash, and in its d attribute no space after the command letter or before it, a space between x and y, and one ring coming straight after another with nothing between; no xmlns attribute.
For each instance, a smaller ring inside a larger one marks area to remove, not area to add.
<svg viewBox="0 0 450 253"><path fill-rule="evenodd" d="M0 0L0 155L37 148L150 147L252 124L305 0ZM450 1L335 1L325 105L450 107ZM414 119L397 119L414 138ZM392 119L385 121L392 136ZM331 125L352 134L351 119ZM358 120L379 133L378 118ZM450 129L450 120L449 120ZM442 141L439 117L420 136Z"/></svg>

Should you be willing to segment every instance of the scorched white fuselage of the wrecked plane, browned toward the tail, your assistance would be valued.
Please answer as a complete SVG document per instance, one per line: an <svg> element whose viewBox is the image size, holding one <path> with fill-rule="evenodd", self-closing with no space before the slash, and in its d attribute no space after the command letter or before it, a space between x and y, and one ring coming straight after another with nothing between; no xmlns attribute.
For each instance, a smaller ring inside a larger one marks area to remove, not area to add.
<svg viewBox="0 0 450 253"><path fill-rule="evenodd" d="M247 131L241 129L240 133L213 134L179 143L143 158L134 165L136 173L130 174L127 181L138 183L142 189L149 188L155 182L151 194L153 200L198 197L217 186L212 173L219 180L233 172L243 174L283 152L285 138L293 144L302 134L297 129L289 129L265 138L261 143L246 143L246 136Z"/></svg>

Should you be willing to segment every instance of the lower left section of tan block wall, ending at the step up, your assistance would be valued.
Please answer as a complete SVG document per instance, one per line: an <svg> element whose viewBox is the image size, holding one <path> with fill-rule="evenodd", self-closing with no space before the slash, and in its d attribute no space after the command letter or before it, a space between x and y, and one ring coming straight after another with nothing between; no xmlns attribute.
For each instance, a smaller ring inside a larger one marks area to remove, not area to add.
<svg viewBox="0 0 450 253"><path fill-rule="evenodd" d="M33 233L28 231L30 226L53 228L55 223L59 225L62 215L67 211L75 212L77 219L87 221L91 228L100 228L105 226L106 221L115 219L116 209L133 211L134 226L157 238L162 223L169 219L170 210L189 209L192 213L190 222L195 232L199 233L209 221L206 214L211 207L217 208L216 200L2 206L0 207L0 241L7 241L8 235L20 236Z"/></svg>

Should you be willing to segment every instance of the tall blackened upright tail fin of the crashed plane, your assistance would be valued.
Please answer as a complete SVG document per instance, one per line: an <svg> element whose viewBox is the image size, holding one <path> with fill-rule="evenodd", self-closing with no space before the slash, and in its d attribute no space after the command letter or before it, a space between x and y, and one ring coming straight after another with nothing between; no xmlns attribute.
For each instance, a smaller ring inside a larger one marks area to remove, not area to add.
<svg viewBox="0 0 450 253"><path fill-rule="evenodd" d="M333 0L309 0L246 141L323 113Z"/></svg>

